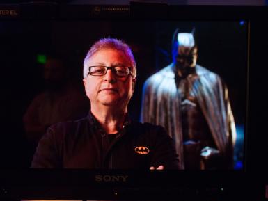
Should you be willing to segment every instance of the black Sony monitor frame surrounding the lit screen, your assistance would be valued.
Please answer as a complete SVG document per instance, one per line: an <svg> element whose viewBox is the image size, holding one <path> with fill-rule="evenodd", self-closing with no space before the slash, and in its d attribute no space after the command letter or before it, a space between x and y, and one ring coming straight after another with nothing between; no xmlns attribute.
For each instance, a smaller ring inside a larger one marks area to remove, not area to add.
<svg viewBox="0 0 268 201"><path fill-rule="evenodd" d="M184 198L262 198L262 185L267 182L265 162L265 65L267 54L267 6L168 6L132 3L130 6L71 6L52 4L4 5L18 9L19 17L1 16L6 20L23 19L173 19L173 20L244 20L249 23L249 61L245 129L244 171L120 171L120 170L1 170L0 198L8 199L75 199L75 200L175 200ZM104 9L105 7L105 9ZM124 8L113 12L108 8ZM33 11L33 8L43 12ZM1 10L3 10L1 9ZM50 10L47 12L47 10ZM53 12L51 12L51 10ZM104 10L104 11L102 11ZM122 11L122 12L121 12ZM90 13L90 15L86 15ZM150 13L150 15L148 15ZM265 39L265 40L264 40ZM262 69L263 67L263 69ZM267 68L266 68L267 70ZM264 73L262 73L264 72ZM267 98L266 98L267 99ZM267 108L267 106L266 106ZM96 183L96 175L128 175L128 182ZM206 182L204 182L206 181ZM95 186L95 187L93 187ZM264 189L264 186L263 186ZM169 192L169 194L168 194ZM117 194L116 194L117 193ZM140 199L139 195L146 193ZM202 194L203 193L203 194ZM129 198L131 195L131 198ZM175 196L175 197L174 197ZM216 196L216 197L215 197ZM177 198L176 198L177 197Z"/></svg>

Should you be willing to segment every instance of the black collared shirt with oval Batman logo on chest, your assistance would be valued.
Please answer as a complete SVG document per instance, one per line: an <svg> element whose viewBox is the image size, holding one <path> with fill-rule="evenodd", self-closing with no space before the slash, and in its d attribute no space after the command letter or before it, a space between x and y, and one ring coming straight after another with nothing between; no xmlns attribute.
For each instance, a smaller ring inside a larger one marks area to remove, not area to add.
<svg viewBox="0 0 268 201"><path fill-rule="evenodd" d="M109 143L93 115L52 125L40 140L32 168L178 169L173 140L163 127L125 121Z"/></svg>

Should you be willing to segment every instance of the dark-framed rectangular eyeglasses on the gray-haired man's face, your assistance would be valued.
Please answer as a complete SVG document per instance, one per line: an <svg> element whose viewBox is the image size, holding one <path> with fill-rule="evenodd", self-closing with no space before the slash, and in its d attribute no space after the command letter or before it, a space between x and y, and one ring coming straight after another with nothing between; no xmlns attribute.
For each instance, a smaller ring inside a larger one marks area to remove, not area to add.
<svg viewBox="0 0 268 201"><path fill-rule="evenodd" d="M127 77L129 74L132 74L131 67L127 66L104 66L104 65L94 65L88 67L88 74L93 76L102 76L107 73L107 70L111 69L117 77Z"/></svg>

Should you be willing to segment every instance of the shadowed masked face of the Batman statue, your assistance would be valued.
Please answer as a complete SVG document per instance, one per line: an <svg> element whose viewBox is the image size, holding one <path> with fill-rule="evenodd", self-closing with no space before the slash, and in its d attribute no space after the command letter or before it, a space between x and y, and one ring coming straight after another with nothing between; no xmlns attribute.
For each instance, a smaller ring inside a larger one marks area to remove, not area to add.
<svg viewBox="0 0 268 201"><path fill-rule="evenodd" d="M184 70L189 67L195 67L197 60L197 48L179 46L176 60L178 67Z"/></svg>

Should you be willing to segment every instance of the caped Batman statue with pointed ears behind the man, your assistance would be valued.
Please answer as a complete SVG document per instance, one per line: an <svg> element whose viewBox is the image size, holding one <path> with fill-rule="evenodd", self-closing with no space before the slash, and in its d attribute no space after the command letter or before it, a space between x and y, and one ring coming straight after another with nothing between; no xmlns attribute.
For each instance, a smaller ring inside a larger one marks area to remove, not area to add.
<svg viewBox="0 0 268 201"><path fill-rule="evenodd" d="M219 75L196 64L191 33L173 38L173 63L145 81L141 122L165 127L175 141L180 168L232 168L235 123Z"/></svg>

